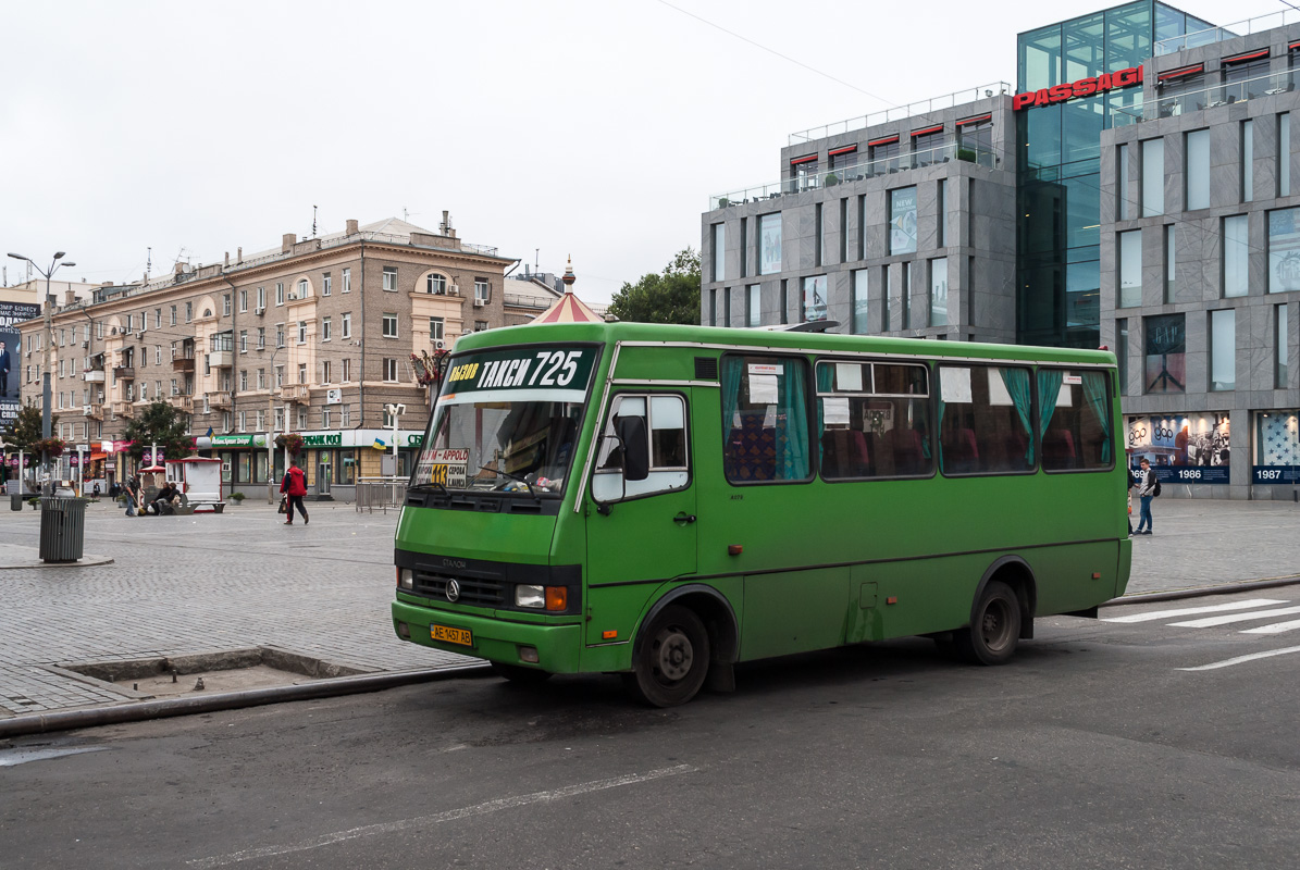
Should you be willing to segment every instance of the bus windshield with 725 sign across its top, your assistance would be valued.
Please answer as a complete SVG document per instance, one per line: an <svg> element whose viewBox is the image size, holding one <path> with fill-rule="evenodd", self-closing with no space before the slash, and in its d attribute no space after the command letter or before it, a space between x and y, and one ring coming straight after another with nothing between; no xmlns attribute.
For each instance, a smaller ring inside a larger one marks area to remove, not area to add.
<svg viewBox="0 0 1300 870"><path fill-rule="evenodd" d="M411 486L560 495L598 352L533 346L456 356Z"/></svg>

